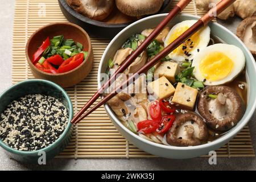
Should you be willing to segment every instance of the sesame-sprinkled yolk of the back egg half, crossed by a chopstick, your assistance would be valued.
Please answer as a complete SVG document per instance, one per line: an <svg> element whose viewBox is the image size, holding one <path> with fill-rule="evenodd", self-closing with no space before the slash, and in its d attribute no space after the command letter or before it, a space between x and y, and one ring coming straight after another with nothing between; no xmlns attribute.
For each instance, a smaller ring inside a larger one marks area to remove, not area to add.
<svg viewBox="0 0 256 182"><path fill-rule="evenodd" d="M177 39L181 34L183 34L185 31L188 30L188 26L176 28L172 35L168 38L167 44L169 45L172 43L175 39ZM173 53L177 55L182 55L189 53L189 51L192 51L200 42L200 32L196 32L194 35L191 36L186 42L181 44L179 47L177 47Z"/></svg>

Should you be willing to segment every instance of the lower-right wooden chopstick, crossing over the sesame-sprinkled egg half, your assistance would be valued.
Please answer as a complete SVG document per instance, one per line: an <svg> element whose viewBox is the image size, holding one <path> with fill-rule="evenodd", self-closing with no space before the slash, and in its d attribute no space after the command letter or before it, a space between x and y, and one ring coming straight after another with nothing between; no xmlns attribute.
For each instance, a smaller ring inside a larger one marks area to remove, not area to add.
<svg viewBox="0 0 256 182"><path fill-rule="evenodd" d="M180 46L185 40L187 40L189 37L191 37L195 32L197 32L200 28L207 25L213 18L214 15L220 14L222 11L224 11L228 6L232 5L232 3L236 0L222 0L219 2L216 7L213 7L208 11L207 14L205 14L203 17L201 17L193 26L188 28L187 31L185 31L183 34L181 34L177 39L174 40L171 44L169 44L166 48L163 49L158 55L153 57L150 61L148 61L142 68L140 68L136 73L134 73L132 76L130 76L126 81L122 82L121 86L118 86L115 88L114 92L108 94L106 97L104 97L100 102L98 102L94 107L92 107L89 111L87 111L85 114L83 114L80 118L76 119L73 123L80 122L83 118L85 118L87 115L92 113L94 110L96 110L101 105L108 102L111 98L113 98L117 94L117 90L125 89L131 82L136 80L138 78L138 75L141 75L141 73L146 72L148 69L153 67L156 63L158 63L159 60L162 60L164 57L166 57L170 52L174 51L177 47ZM89 101L90 102L90 101ZM93 102L90 102L90 105L92 105Z"/></svg>

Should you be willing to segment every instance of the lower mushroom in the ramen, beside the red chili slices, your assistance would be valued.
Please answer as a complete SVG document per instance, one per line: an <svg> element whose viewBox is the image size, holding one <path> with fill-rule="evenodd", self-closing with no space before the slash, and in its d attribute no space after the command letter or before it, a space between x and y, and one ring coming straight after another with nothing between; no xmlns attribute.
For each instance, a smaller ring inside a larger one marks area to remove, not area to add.
<svg viewBox="0 0 256 182"><path fill-rule="evenodd" d="M193 112L177 115L167 133L167 142L171 146L197 146L207 139L207 126L203 119Z"/></svg>

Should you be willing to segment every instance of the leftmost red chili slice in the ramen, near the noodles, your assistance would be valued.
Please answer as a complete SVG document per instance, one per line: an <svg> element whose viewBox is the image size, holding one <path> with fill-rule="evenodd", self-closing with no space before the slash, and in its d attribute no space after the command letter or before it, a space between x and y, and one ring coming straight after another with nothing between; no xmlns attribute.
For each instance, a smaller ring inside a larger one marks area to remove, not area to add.
<svg viewBox="0 0 256 182"><path fill-rule="evenodd" d="M137 124L138 132L143 134L150 134L158 129L158 122L152 120L141 121Z"/></svg>

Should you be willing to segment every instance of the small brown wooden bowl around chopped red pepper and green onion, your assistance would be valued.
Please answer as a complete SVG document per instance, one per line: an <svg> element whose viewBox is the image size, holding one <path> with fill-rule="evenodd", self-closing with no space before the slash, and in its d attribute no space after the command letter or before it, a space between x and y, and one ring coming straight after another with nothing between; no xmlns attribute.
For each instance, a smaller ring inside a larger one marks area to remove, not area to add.
<svg viewBox="0 0 256 182"><path fill-rule="evenodd" d="M65 39L73 39L75 42L80 42L84 46L83 51L88 51L88 56L79 67L66 73L52 74L40 71L32 64L32 57L37 48L46 40L47 36L51 39L57 35L64 35ZM27 42L26 57L31 72L36 78L53 81L64 88L76 85L84 80L93 65L93 51L89 35L81 27L73 23L51 23L39 28L39 30L31 35Z"/></svg>

